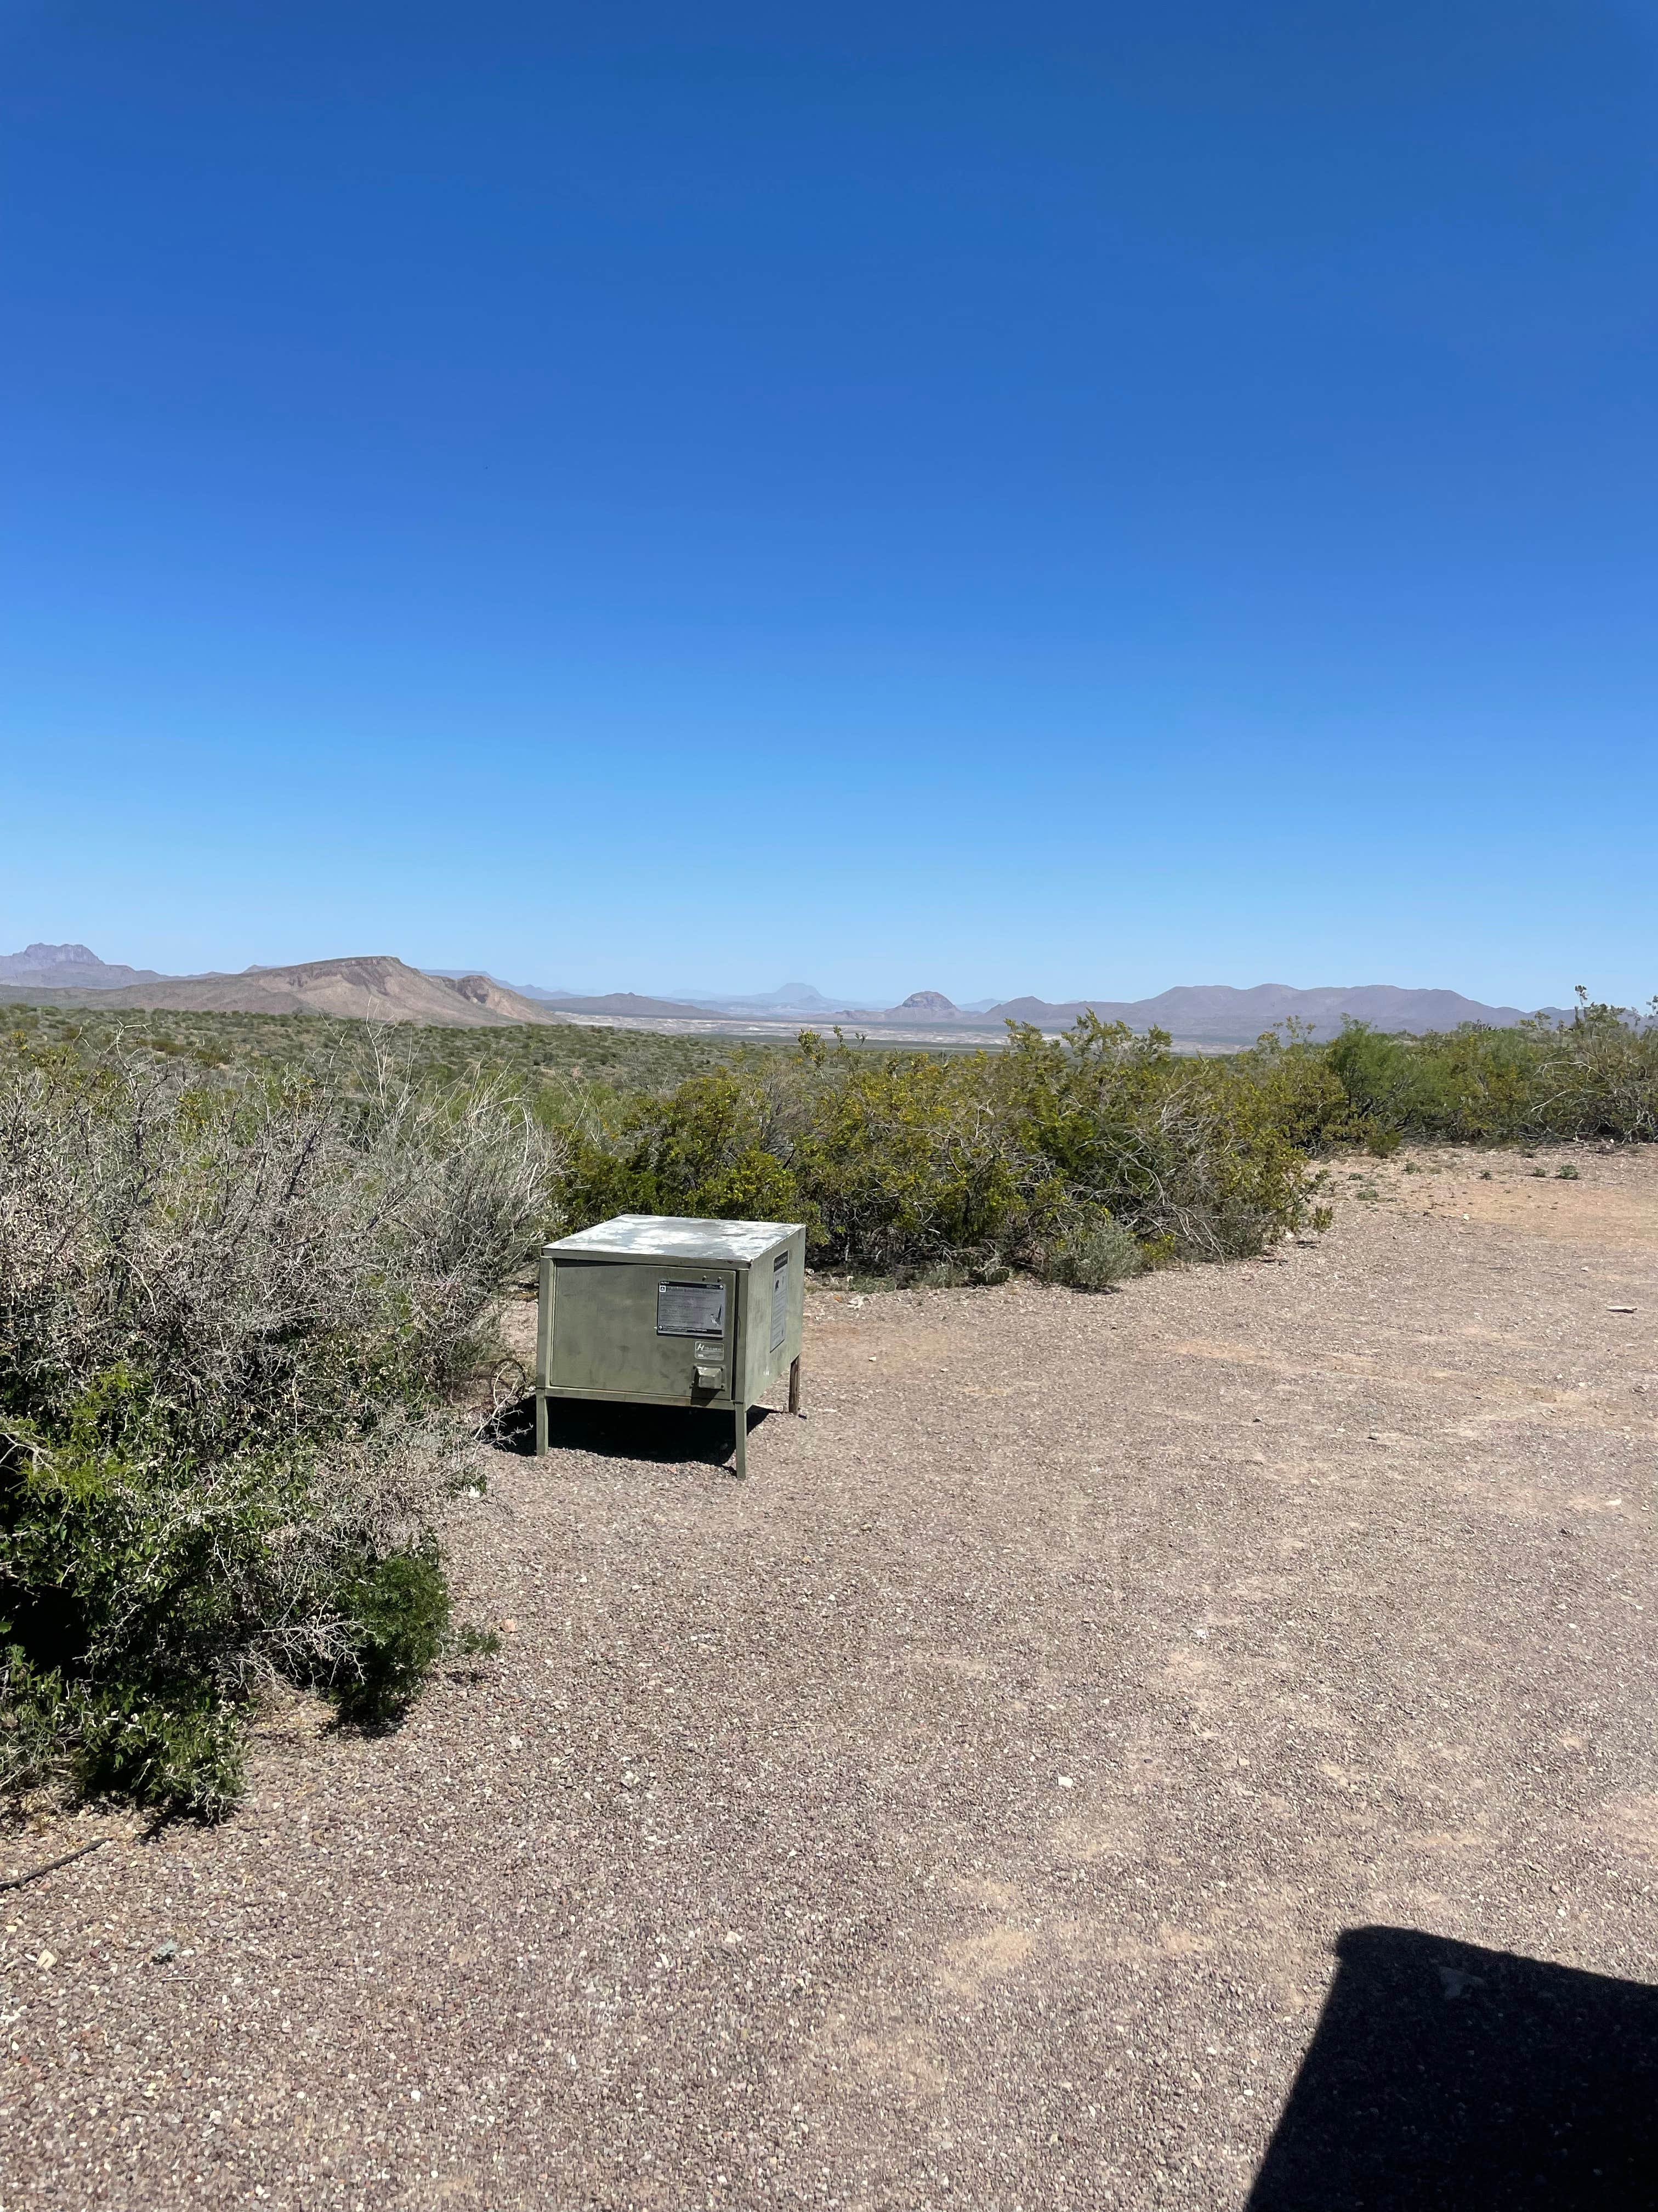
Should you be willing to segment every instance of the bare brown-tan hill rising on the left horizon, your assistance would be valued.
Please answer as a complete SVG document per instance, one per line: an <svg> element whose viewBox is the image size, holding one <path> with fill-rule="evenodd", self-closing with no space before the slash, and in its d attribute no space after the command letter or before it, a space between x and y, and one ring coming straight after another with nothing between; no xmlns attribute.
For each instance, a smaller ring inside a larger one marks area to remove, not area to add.
<svg viewBox="0 0 1658 2212"><path fill-rule="evenodd" d="M130 971L128 971L130 973ZM22 998L7 978L7 998ZM515 1022L559 1022L489 975L422 975L389 953L305 960L298 967L248 969L243 975L161 975L119 991L29 989L53 1004L177 1006L190 1013L334 1013L367 1022L429 1022L442 1029L502 1029Z"/></svg>

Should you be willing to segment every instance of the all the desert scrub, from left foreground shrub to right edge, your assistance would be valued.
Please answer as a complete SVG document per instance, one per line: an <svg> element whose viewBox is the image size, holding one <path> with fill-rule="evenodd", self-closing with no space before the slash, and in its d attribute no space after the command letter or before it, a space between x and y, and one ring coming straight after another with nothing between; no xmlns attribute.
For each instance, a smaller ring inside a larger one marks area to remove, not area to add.
<svg viewBox="0 0 1658 2212"><path fill-rule="evenodd" d="M0 1778L199 1814L272 1681L382 1721L455 1648L453 1396L548 1232L800 1219L842 1276L1103 1290L1322 1225L1342 1146L1658 1133L1658 1031L1592 1004L1225 1060L1092 1015L955 1055L314 1015L4 1035Z"/></svg>

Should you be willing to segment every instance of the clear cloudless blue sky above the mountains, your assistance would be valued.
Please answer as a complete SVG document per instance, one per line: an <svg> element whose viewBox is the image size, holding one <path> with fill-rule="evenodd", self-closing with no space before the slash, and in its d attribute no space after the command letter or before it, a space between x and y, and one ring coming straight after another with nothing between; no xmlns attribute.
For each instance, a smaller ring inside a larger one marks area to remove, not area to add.
<svg viewBox="0 0 1658 2212"><path fill-rule="evenodd" d="M0 949L1658 991L1658 7L0 0Z"/></svg>

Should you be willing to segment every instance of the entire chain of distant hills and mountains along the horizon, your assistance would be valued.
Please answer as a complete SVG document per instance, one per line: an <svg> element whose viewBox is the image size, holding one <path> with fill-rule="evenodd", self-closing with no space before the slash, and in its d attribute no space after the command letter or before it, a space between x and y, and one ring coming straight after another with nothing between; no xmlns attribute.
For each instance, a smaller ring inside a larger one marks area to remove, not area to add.
<svg viewBox="0 0 1658 2212"><path fill-rule="evenodd" d="M517 1022L604 1022L610 1026L718 1029L721 1020L743 1031L844 1024L889 1031L893 1037L999 1035L1004 1022L1030 1022L1043 1031L1068 1029L1081 1013L1130 1029L1167 1029L1176 1044L1251 1044L1280 1022L1304 1022L1329 1037L1344 1020L1375 1029L1421 1033L1483 1022L1510 1029L1523 1022L1519 1006L1486 1006L1457 991L1404 991L1397 984L1331 984L1300 991L1265 982L1251 991L1231 984L1180 984L1156 998L1134 1000L977 1000L955 1006L942 991L913 991L900 1006L838 1006L807 982L780 984L752 998L685 995L648 998L637 991L575 993L542 984L504 984L493 975L460 969L413 969L389 953L340 960L305 960L296 967L250 967L239 975L157 975L108 960L84 945L27 945L0 956L0 998L46 1000L97 1006L177 1006L201 1013L334 1013L378 1022L433 1022L442 1026L497 1029ZM1541 1009L1565 1020L1565 1009Z"/></svg>

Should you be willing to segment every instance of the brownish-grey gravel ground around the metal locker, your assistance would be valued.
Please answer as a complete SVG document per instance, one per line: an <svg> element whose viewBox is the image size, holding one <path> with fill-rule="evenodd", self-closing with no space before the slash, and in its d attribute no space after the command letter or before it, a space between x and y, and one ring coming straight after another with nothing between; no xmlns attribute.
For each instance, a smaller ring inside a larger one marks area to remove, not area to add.
<svg viewBox="0 0 1658 2212"><path fill-rule="evenodd" d="M1346 1161L1119 1296L816 1292L745 1486L679 1416L500 1453L497 1661L272 1721L219 1829L0 1843L111 1838L0 1898L4 2212L1240 2208L1337 1942L1457 2022L1486 1953L1658 1982L1658 1150L1561 1157ZM1521 2201L1307 2174L1253 2203Z"/></svg>

